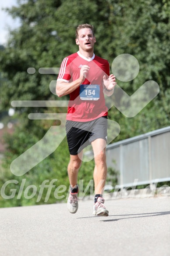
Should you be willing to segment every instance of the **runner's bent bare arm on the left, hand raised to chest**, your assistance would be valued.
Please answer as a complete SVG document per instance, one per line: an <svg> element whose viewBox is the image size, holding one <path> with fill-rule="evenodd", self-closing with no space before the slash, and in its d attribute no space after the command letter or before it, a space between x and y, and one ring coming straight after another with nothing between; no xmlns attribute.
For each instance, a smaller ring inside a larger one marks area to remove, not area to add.
<svg viewBox="0 0 170 256"><path fill-rule="evenodd" d="M71 83L58 80L56 85L57 96L62 97L64 95L70 94L75 89L77 89L81 85L81 83L85 81L85 77L89 69L90 68L88 65L83 65L80 70L80 77Z"/></svg>

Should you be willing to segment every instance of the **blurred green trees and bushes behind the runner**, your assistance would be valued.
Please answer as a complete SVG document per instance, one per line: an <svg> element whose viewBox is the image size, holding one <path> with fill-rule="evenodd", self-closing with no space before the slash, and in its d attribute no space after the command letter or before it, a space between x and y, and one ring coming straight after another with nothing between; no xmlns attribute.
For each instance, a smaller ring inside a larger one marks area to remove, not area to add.
<svg viewBox="0 0 170 256"><path fill-rule="evenodd" d="M60 67L64 57L78 50L75 44L75 30L78 24L94 25L95 54L110 62L119 54L132 54L137 58L140 71L131 82L117 81L127 94L132 95L147 80L159 84L160 92L138 115L126 118L115 107L109 111L109 118L119 123L121 131L114 140L149 132L170 125L170 2L168 0L18 0L18 6L7 10L13 18L20 18L21 26L10 32L7 46L0 47L0 111L8 109L14 100L64 100L52 94L49 85L56 75L40 74L39 68ZM28 74L28 68L35 68ZM114 73L114 70L110 72ZM69 152L64 141L53 154L40 162L21 177L10 171L12 160L38 142L50 126L58 125L55 120L30 120L28 113L62 113L65 108L15 108L18 126L12 136L7 135L7 151L0 174L0 187L7 180L18 180L9 184L19 192L22 179L25 187L35 185L36 195L25 199L0 198L0 206L22 206L44 203L47 188L42 199L36 202L39 185L44 180L57 179L54 184L66 185L68 189L67 164ZM83 162L79 179L85 187L92 179L94 162ZM50 182L50 181L49 181ZM55 187L55 188L56 188ZM63 199L53 196L52 188L47 203ZM31 194L30 191L28 191ZM62 193L61 193L62 195ZM67 190L63 192L64 197Z"/></svg>

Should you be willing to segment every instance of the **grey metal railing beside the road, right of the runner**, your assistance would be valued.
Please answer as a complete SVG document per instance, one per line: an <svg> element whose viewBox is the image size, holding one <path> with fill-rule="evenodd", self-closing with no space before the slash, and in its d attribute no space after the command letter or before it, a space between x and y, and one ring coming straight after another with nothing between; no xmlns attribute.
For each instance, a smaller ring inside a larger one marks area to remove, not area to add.
<svg viewBox="0 0 170 256"><path fill-rule="evenodd" d="M119 187L170 180L170 126L110 144L107 166L119 173Z"/></svg>

